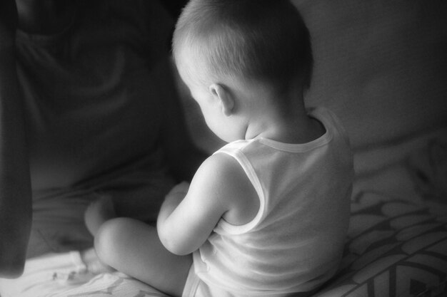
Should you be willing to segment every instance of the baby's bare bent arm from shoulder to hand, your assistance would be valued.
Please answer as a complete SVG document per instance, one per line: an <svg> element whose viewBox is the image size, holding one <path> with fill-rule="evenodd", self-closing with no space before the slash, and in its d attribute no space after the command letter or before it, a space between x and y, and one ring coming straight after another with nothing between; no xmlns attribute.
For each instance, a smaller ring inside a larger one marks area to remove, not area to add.
<svg viewBox="0 0 447 297"><path fill-rule="evenodd" d="M199 167L186 196L176 189L168 194L157 228L166 249L185 255L204 244L222 217L229 215L231 224L245 224L258 208L256 191L241 166L217 154Z"/></svg>

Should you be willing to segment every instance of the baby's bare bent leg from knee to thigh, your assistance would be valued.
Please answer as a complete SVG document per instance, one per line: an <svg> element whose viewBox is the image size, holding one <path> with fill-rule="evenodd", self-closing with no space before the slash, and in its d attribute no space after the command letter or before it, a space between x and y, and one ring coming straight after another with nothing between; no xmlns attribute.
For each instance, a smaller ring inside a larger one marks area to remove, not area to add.
<svg viewBox="0 0 447 297"><path fill-rule="evenodd" d="M176 256L161 244L156 228L134 219L105 222L95 237L101 261L171 296L181 296L191 255Z"/></svg>

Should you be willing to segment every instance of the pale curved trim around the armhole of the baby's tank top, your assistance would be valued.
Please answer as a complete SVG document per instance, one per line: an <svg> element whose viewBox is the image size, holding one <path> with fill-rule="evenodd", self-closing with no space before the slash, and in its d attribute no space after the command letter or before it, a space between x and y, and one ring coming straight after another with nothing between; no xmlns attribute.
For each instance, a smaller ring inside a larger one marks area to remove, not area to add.
<svg viewBox="0 0 447 297"><path fill-rule="evenodd" d="M229 155L233 157L239 165L241 165L243 171L245 172L246 176L250 180L251 184L253 185L256 193L258 194L259 198L259 209L256 216L251 220L251 222L248 222L243 225L233 225L228 222L226 222L224 219L221 219L219 221L218 226L224 229L224 231L228 232L229 234L243 234L251 229L253 229L255 226L258 225L259 222L261 222L261 218L263 217L264 210L266 207L266 199L264 196L263 188L261 185L261 181L258 178L258 175L253 169L253 166L251 165L250 161L248 161L247 157L243 155L243 152L241 150L226 150L225 148L215 152L216 153L224 153L226 155Z"/></svg>

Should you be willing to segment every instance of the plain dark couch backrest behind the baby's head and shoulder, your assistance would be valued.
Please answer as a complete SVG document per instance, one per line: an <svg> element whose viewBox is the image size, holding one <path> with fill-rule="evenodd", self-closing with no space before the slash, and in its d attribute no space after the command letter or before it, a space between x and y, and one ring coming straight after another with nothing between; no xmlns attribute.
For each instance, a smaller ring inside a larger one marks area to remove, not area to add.
<svg viewBox="0 0 447 297"><path fill-rule="evenodd" d="M307 103L331 108L354 149L447 125L447 1L293 3L313 38Z"/></svg>

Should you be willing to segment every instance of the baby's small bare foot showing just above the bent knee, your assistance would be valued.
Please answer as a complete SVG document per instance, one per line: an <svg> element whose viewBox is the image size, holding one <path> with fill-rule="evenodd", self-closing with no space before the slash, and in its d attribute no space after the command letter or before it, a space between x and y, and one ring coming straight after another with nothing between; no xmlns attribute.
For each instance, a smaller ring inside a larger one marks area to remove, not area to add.
<svg viewBox="0 0 447 297"><path fill-rule="evenodd" d="M90 233L95 236L101 225L116 217L114 202L110 196L102 196L91 202L84 214L85 223Z"/></svg>

